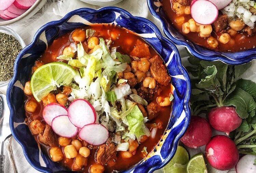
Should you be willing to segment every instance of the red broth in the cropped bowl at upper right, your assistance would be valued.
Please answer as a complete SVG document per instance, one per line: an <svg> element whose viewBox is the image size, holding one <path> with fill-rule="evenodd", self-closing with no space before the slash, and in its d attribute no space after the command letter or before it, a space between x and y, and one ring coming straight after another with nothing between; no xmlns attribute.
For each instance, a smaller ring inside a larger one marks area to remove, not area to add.
<svg viewBox="0 0 256 173"><path fill-rule="evenodd" d="M191 15L180 15L177 16L175 11L172 9L172 2L175 2L175 0L163 0L163 9L165 14L169 18L169 22L173 24L177 30L183 34L188 40L190 40L193 43L196 43L198 45L201 45L206 48L212 49L207 44L207 38L201 38L199 37L197 32L189 32L188 34L184 34L182 31L182 24L179 25L175 20L177 17L185 17L185 22L187 22L189 19L191 19ZM218 40L218 37L220 36L220 33L212 32L211 34L214 38ZM256 46L256 34L252 36L248 36L246 32L239 32L238 34L231 36L233 39L232 41L229 41L227 44L223 44L219 42L219 45L214 50L220 51L220 52L240 52L245 51L247 49L255 48Z"/></svg>

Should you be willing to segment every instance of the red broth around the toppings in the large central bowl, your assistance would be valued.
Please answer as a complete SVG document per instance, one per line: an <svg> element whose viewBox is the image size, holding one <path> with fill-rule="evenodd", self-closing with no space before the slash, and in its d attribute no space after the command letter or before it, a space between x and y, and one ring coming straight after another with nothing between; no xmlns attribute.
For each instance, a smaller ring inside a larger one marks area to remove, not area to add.
<svg viewBox="0 0 256 173"><path fill-rule="evenodd" d="M95 35L97 37L102 37L104 39L111 39L111 35L112 35L112 39L113 39L113 35L115 35L116 39L113 40L113 45L111 45L111 46L113 46L113 47L120 46L118 48L118 52L125 53L128 55L130 55L130 52L134 48L134 45L135 45L137 39L139 39L145 43L145 41L143 39L141 39L140 37L138 37L137 35L133 34L132 32L130 32L126 29L121 29L119 27L113 27L113 26L109 26L109 25L93 25L91 28L96 30ZM54 40L54 42L46 49L46 51L40 57L39 60L42 61L44 64L57 61L56 57L62 53L65 46L70 44L70 42L71 42L70 35L71 35L71 33L67 33L67 34L63 35L62 37ZM150 47L150 53L151 53L151 56L157 55L156 51L154 51L154 49L152 47ZM160 87L162 89L160 96L163 96L163 97L170 96L171 84L169 84L168 86L160 86ZM34 99L33 96L32 97L28 96L27 100L31 100L31 99L32 100ZM157 100L157 96L154 96L153 102L157 102L156 100ZM26 116L28 118L28 122L30 122L31 120L34 120L34 119L43 120L42 110L43 110L44 106L43 106L42 102L38 103L38 105L39 106L34 113L29 113L26 111ZM157 130L156 137L154 139L149 137L145 142L139 144L139 147L137 148L136 153L133 153L133 156L129 159L125 159L125 158L121 157L120 152L118 152L116 164L105 165L105 172L112 172L113 170L117 170L117 171L127 170L127 169L131 168L133 165L135 165L136 163L138 163L139 161L143 160L143 158L145 158L145 156L143 156L141 151L143 150L144 147L147 147L147 151L150 152L158 144L158 142L160 141L161 136L163 135L164 130L169 122L170 114L171 114L171 106L161 107L159 116L157 118L151 120L150 122L146 123L146 125L148 126L150 131L152 130L152 128L151 128L152 124L155 124L158 127L161 127ZM35 136L35 138L37 140L37 136ZM63 148L64 147L62 147L62 150L63 150ZM47 151L49 149L50 149L50 147L46 147ZM91 150L91 154L87 160L87 166L83 167L83 169L78 172L86 172L86 173L89 172L90 166L92 164L96 163L96 161L95 161L96 150L97 150L97 147L96 147L96 149ZM64 156L65 156L65 154L64 154ZM74 161L74 159L65 159L64 158L62 161L60 161L60 164L62 164L64 167L71 170L73 161Z"/></svg>

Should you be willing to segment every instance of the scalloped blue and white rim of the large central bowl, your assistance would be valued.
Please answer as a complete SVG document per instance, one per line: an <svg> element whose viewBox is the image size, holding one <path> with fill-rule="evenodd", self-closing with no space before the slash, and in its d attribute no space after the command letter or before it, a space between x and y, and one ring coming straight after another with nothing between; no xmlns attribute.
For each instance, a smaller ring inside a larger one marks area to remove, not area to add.
<svg viewBox="0 0 256 173"><path fill-rule="evenodd" d="M134 17L129 12L116 8L105 7L99 10L88 8L78 9L68 13L58 21L52 21L41 27L32 43L25 47L18 55L14 67L14 77L7 90L7 101L10 108L10 127L14 138L21 144L28 162L41 172L70 172L58 163L53 162L47 153L41 151L32 136L26 122L23 87L29 80L31 68L35 61L43 54L54 39L78 27L100 23L115 24L133 31L148 42L164 59L172 76L174 102L172 116L162 140L149 156L130 170L124 172L153 172L162 168L174 156L178 141L185 133L189 120L190 79L187 71L181 65L180 57L175 45L164 38L159 29L151 21Z"/></svg>

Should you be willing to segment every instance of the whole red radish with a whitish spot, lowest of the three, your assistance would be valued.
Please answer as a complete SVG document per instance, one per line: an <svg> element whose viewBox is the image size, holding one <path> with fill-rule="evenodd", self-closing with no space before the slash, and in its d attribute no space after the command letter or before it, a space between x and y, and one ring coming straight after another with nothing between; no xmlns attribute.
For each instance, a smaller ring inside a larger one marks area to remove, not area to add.
<svg viewBox="0 0 256 173"><path fill-rule="evenodd" d="M205 156L212 167L226 171L237 164L239 152L234 141L228 136L216 135L206 145Z"/></svg>

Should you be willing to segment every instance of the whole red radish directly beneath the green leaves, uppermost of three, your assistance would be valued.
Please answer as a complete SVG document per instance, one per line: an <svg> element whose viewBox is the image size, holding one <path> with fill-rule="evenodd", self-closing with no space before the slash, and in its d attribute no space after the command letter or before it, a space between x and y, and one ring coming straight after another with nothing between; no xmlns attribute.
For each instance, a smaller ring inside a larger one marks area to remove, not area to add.
<svg viewBox="0 0 256 173"><path fill-rule="evenodd" d="M227 135L237 129L242 123L242 118L238 116L233 106L213 108L208 113L208 120L215 130L226 132Z"/></svg>

